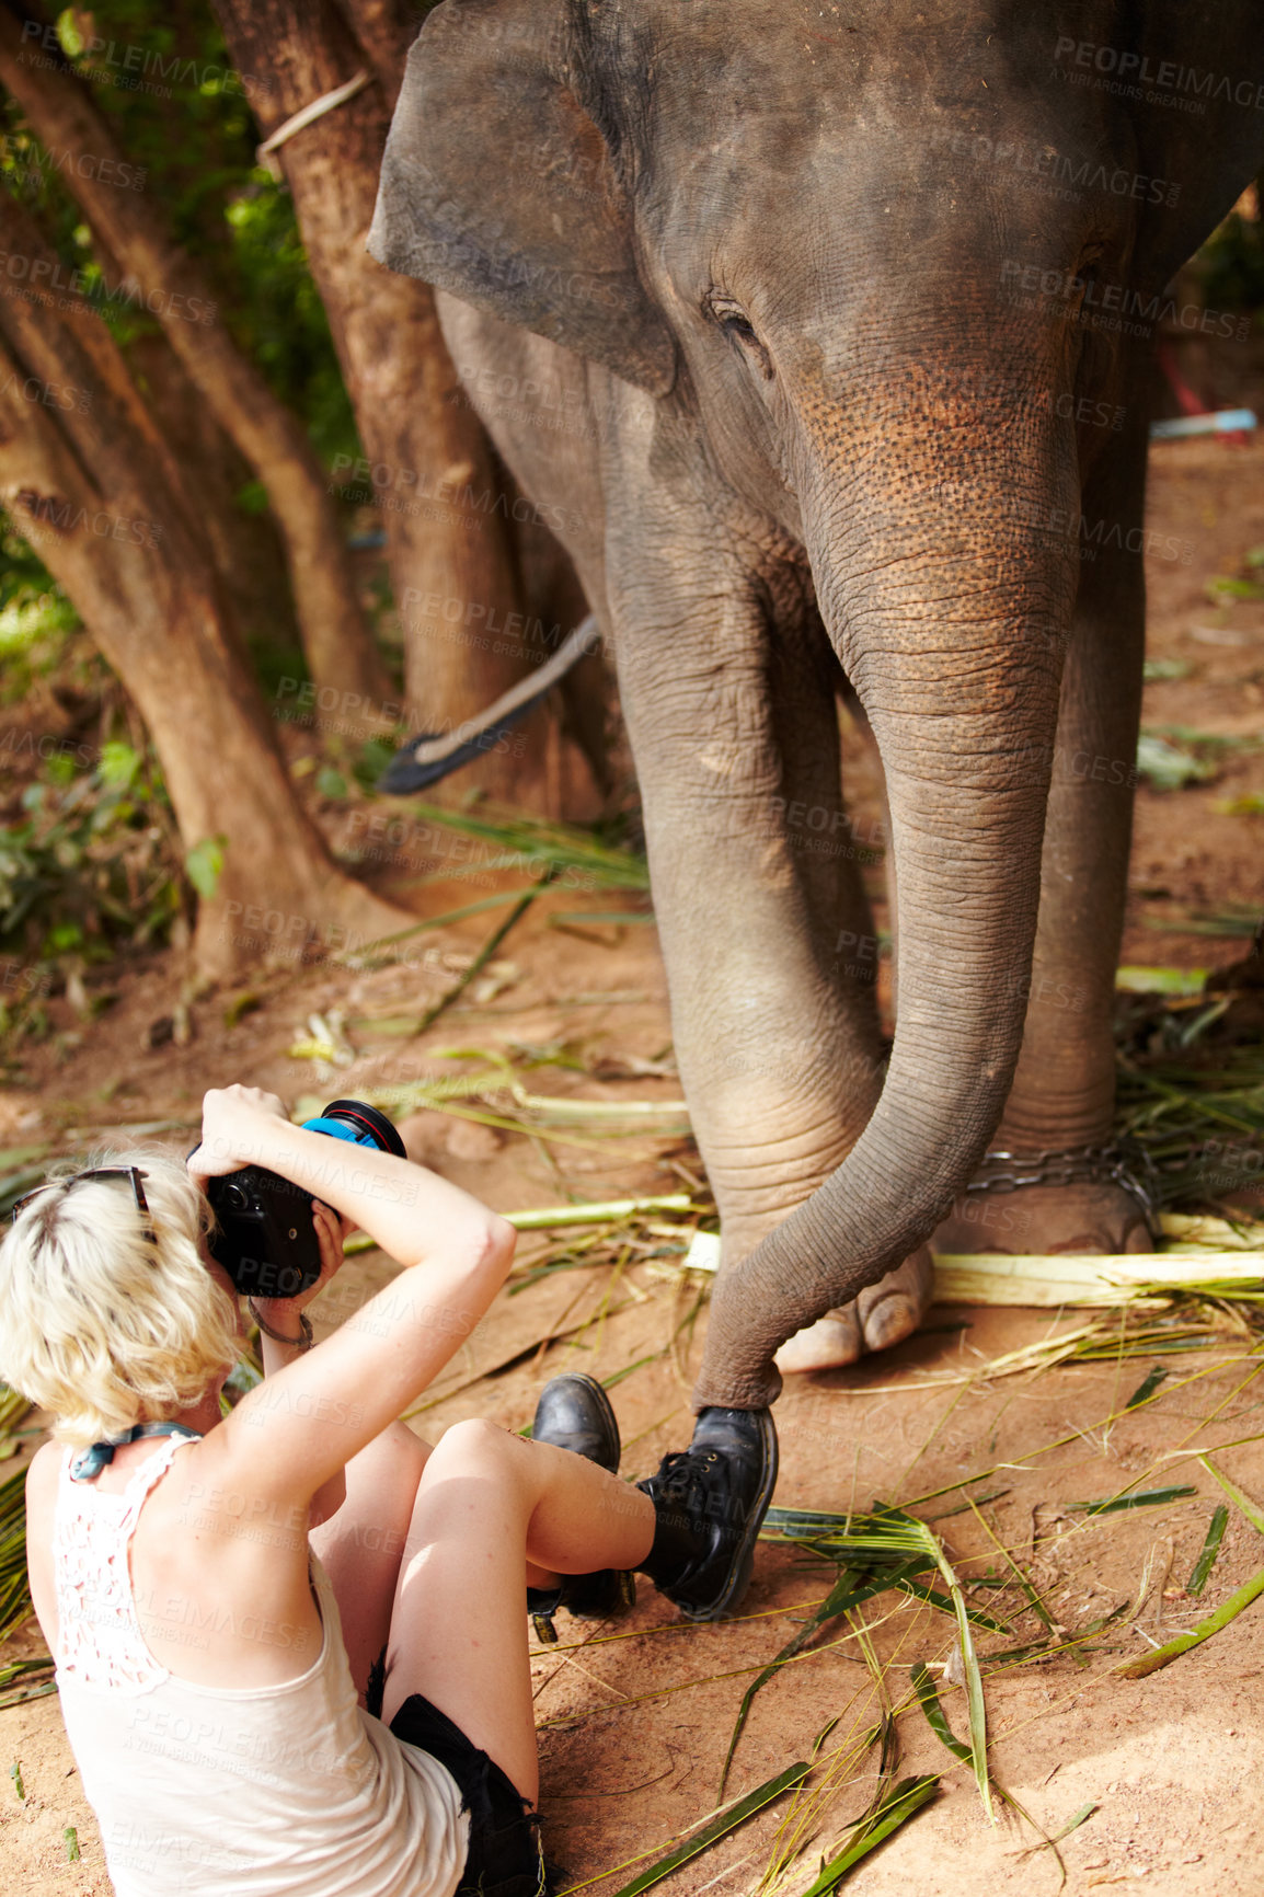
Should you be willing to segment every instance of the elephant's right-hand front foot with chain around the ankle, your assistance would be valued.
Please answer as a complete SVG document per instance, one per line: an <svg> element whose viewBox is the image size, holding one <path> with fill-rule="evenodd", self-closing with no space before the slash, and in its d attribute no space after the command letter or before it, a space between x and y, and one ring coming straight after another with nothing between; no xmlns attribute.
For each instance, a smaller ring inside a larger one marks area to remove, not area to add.
<svg viewBox="0 0 1264 1897"><path fill-rule="evenodd" d="M1144 1206L1114 1180L962 1193L930 1243L936 1252L1152 1250Z"/></svg>

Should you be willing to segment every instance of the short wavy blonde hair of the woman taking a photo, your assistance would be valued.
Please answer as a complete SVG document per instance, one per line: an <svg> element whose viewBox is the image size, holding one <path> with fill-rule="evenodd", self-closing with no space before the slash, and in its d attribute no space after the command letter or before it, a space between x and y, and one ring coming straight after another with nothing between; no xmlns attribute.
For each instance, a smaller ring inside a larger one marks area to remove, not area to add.
<svg viewBox="0 0 1264 1897"><path fill-rule="evenodd" d="M70 1447L195 1404L237 1362L233 1299L199 1239L211 1206L163 1151L97 1153L139 1167L148 1222L127 1180L57 1167L0 1244L0 1377L55 1415ZM148 1229L154 1233L150 1241Z"/></svg>

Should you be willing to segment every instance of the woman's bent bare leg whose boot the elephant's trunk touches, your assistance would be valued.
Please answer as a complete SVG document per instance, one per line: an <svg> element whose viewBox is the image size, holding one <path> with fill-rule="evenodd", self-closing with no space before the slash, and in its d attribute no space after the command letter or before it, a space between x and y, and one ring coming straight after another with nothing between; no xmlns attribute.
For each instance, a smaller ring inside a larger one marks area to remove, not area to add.
<svg viewBox="0 0 1264 1897"><path fill-rule="evenodd" d="M455 1423L433 1451L399 1575L381 1717L419 1692L535 1804L524 1563L632 1569L655 1510L619 1476L493 1423Z"/></svg>

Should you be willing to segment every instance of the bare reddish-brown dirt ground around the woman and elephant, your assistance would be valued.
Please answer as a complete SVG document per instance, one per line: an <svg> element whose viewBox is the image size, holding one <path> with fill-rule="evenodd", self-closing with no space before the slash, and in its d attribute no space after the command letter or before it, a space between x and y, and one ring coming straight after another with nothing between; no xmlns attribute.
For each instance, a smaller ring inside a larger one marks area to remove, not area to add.
<svg viewBox="0 0 1264 1897"><path fill-rule="evenodd" d="M1148 563L1150 654L1188 670L1146 687L1146 725L1264 734L1264 603L1222 609L1203 590L1215 573L1241 575L1245 552L1264 546L1262 476L1264 442L1165 444L1154 451L1150 525L1158 537L1190 541L1194 554L1190 563ZM873 820L871 759L862 755L848 785L858 814ZM1167 793L1143 787L1125 962L1215 967L1245 952L1241 937L1171 924L1230 907L1258 911L1264 816L1217 810L1249 793L1264 793L1264 749L1224 753L1209 783ZM461 901L461 890L469 897L469 886L437 884L427 897L433 912ZM598 905L619 907L607 897ZM653 930L550 928L550 907L583 905L573 893L541 899L501 952L509 966L501 967L499 992L473 986L421 1040L389 1038L374 1030L374 1019L416 1013L452 981L455 962L423 971L325 966L273 975L254 985L260 1005L233 1026L224 1024L232 996L209 994L192 1005L194 1038L182 1047L148 1045L150 1024L175 1009L184 973L178 956L158 956L121 977L112 971L118 1002L91 1026L68 1004L53 1004L61 1038L28 1051L23 1076L0 1091L0 1146L53 1140L68 1150L89 1131L146 1125L184 1150L209 1085L249 1079L287 1102L311 1093L355 1095L448 1068L438 1051L454 1047L503 1051L564 1040L586 1072L537 1070L530 1077L535 1091L594 1100L678 1096L664 1060L670 1024ZM488 918L474 918L427 941L469 954L488 928ZM332 1007L344 1011L355 1059L321 1076L288 1049L313 1011ZM624 1077L594 1076L602 1060L602 1074ZM647 1074L643 1064L668 1072ZM416 1127L416 1140L429 1163L501 1210L571 1195L674 1191L681 1189L678 1169L697 1167L681 1138L528 1142L438 1114ZM530 1262L539 1248L539 1239L524 1239L520 1258ZM345 1279L378 1284L389 1271L370 1254L349 1260ZM461 1417L488 1415L518 1428L558 1370L583 1366L607 1377L634 1366L613 1389L613 1402L624 1472L649 1472L689 1434L691 1370L706 1322L702 1315L693 1330L683 1324L693 1299L695 1288L679 1271L655 1260L543 1277L499 1299L427 1394L414 1427L438 1434ZM313 1317L321 1330L321 1305ZM1051 1836L1091 1806L1059 1844L1070 1893L1144 1882L1156 1893L1255 1897L1264 1893L1256 1848L1264 1829L1264 1607L1249 1607L1150 1679L1124 1681L1112 1666L1201 1618L1264 1565L1260 1537L1230 1510L1205 1593L1194 1601L1184 1592L1222 1501L1194 1453L1211 1451L1226 1476L1264 1502L1264 1392L1256 1381L1264 1362L1226 1334L1213 1349L1165 1358L1169 1377L1156 1400L1127 1413L1150 1358L1023 1377L989 1373L1002 1353L1072 1322L1080 1318L936 1307L928 1328L886 1356L795 1379L776 1409L776 1501L829 1510L864 1510L875 1499L915 1504L970 1580L1004 1578L996 1544L1012 1550L1069 1635L1124 1609L1086 1664L1063 1652L987 1675L994 1779ZM1125 1483L1188 1485L1196 1493L1110 1516L1076 1508ZM977 1512L962 1506L966 1495ZM638 1859L660 1855L706 1817L742 1692L831 1580L833 1569L820 1559L765 1542L738 1620L687 1626L647 1584L626 1620L594 1626L560 1616L562 1641L539 1650L533 1671L547 1848L566 1867L567 1888L592 1886L598 1897L611 1897L640 1869ZM981 1633L983 1654L1038 1637L1017 1590L979 1586L970 1599L1012 1630ZM970 1768L943 1749L911 1696L909 1667L947 1662L953 1641L947 1616L883 1593L846 1633L833 1626L774 1675L753 1702L729 1795L807 1759L822 1728L837 1721L822 1753L833 1755L833 1791L782 1798L662 1889L670 1897L753 1893L776 1867L776 1853L791 1848L805 1855L784 1888L805 1889L822 1851L867 1804L877 1755L864 1751L860 1738L890 1707L900 1713L902 1774L938 1772L941 1795L858 1867L848 1889L856 1897L1055 1893L1055 1853L1008 1808L989 1825ZM11 1647L40 1650L36 1630ZM964 1694L951 1675L941 1692L962 1736ZM25 1802L9 1781L11 1762L21 1764ZM0 1715L0 1766L4 1888L13 1897L104 1897L110 1886L101 1846L55 1696ZM66 1861L68 1825L82 1850L76 1863Z"/></svg>

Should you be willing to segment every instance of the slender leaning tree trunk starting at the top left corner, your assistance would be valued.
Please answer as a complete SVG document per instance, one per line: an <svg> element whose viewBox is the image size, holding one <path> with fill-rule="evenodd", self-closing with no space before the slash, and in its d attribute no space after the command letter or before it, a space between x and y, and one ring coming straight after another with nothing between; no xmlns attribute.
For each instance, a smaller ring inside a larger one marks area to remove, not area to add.
<svg viewBox="0 0 1264 1897"><path fill-rule="evenodd" d="M175 243L161 212L120 184L131 167L70 63L53 61L44 42L38 63L23 59L23 44L19 9L4 0L0 82L46 146L87 159L65 167L68 188L106 250L129 281L135 279L144 307L158 317L224 433L268 489L287 546L313 679L357 700L391 696L389 675L361 611L342 522L302 423L216 321L209 279Z"/></svg>

